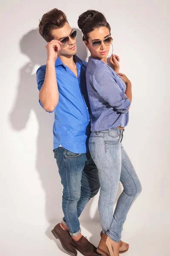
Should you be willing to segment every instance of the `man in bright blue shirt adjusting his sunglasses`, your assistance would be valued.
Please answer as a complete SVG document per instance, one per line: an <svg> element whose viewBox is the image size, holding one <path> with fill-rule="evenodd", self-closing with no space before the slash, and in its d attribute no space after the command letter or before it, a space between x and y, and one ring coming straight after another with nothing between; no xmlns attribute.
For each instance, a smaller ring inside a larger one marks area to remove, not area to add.
<svg viewBox="0 0 170 256"><path fill-rule="evenodd" d="M71 29L62 11L45 13L39 31L48 42L46 65L37 70L39 102L45 111L55 112L54 158L63 185L64 218L52 233L72 255L77 255L78 250L85 256L96 256L96 247L82 236L79 224L85 205L99 191L98 171L88 149L87 63L75 55L77 32Z"/></svg>

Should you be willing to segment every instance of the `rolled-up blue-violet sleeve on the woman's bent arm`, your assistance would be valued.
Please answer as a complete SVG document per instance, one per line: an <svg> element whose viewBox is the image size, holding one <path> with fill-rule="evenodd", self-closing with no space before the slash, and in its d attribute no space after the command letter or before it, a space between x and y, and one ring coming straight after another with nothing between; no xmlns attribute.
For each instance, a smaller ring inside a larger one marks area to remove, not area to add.
<svg viewBox="0 0 170 256"><path fill-rule="evenodd" d="M116 111L120 113L126 113L128 111L130 100L122 92L107 66L102 65L98 67L94 75L92 75L92 81L94 89Z"/></svg>

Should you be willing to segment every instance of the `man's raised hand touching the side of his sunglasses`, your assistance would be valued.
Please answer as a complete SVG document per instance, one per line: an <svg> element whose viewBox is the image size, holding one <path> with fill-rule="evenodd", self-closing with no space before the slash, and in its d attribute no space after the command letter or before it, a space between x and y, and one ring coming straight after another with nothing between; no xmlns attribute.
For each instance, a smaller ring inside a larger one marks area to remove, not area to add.
<svg viewBox="0 0 170 256"><path fill-rule="evenodd" d="M56 61L57 52L60 51L62 43L58 40L52 40L45 46L47 51L47 61Z"/></svg>

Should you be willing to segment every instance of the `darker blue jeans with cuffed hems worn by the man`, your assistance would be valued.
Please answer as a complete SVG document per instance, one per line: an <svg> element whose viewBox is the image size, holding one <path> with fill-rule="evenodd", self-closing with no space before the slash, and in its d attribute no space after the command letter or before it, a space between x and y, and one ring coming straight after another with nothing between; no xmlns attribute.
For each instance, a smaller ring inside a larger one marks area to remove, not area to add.
<svg viewBox="0 0 170 256"><path fill-rule="evenodd" d="M81 232L79 216L100 188L98 170L90 152L75 154L63 147L53 151L63 186L62 223L68 225L71 236L77 236Z"/></svg>

